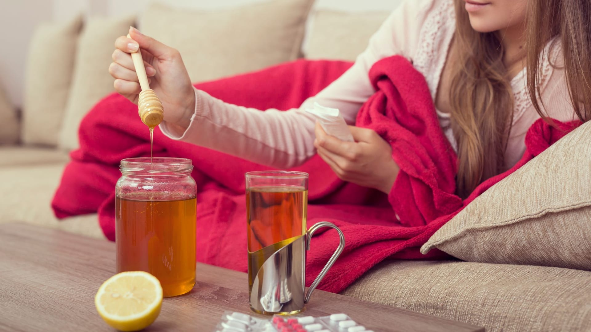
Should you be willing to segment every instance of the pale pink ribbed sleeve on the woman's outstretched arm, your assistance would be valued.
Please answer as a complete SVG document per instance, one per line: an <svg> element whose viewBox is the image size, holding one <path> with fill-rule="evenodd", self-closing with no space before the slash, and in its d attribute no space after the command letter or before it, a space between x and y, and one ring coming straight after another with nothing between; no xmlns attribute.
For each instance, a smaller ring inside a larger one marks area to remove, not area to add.
<svg viewBox="0 0 591 332"><path fill-rule="evenodd" d="M369 40L349 70L300 108L287 111L258 109L225 103L202 90L195 89L195 110L184 132L160 124L164 135L202 147L235 155L258 164L290 168L302 164L315 153L315 119L305 111L313 102L338 108L349 124L363 103L375 93L368 72L381 58L414 52L425 4L431 1L403 2ZM418 21L418 22L417 22Z"/></svg>

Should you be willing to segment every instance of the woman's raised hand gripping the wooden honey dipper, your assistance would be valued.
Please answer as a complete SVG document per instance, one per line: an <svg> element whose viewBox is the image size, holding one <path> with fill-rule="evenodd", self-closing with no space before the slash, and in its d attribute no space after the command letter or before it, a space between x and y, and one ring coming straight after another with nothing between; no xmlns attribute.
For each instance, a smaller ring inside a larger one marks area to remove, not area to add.
<svg viewBox="0 0 591 332"><path fill-rule="evenodd" d="M186 129L194 112L195 94L180 53L135 28L129 28L129 35L131 39L121 36L115 41L113 63L109 66L109 73L115 77L115 90L131 102L138 103L141 89L129 53L134 53L139 47L150 89L164 106L164 121Z"/></svg>

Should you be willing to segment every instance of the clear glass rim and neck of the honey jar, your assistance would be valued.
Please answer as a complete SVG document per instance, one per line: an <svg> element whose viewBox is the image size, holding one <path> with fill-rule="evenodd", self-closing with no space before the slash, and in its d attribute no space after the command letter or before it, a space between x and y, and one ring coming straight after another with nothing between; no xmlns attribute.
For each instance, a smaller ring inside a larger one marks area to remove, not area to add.
<svg viewBox="0 0 591 332"><path fill-rule="evenodd" d="M193 171L193 161L174 157L137 157L121 160L119 171L137 175L181 175Z"/></svg>

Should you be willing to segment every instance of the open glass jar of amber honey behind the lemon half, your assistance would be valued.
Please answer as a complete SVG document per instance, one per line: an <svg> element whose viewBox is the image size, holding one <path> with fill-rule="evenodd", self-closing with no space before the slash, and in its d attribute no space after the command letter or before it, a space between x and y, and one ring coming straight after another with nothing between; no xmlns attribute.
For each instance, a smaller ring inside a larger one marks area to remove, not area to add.
<svg viewBox="0 0 591 332"><path fill-rule="evenodd" d="M195 285L196 196L193 162L128 158L115 185L116 271L146 271L164 297Z"/></svg>

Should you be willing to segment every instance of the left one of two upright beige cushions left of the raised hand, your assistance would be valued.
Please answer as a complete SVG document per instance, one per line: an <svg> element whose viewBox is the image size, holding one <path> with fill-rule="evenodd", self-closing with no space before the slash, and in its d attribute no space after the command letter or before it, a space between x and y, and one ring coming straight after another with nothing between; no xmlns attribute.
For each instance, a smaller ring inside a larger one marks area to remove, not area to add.
<svg viewBox="0 0 591 332"><path fill-rule="evenodd" d="M76 40L82 16L43 23L28 50L22 108L22 142L57 145L72 83Z"/></svg>

